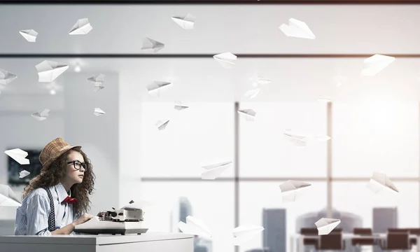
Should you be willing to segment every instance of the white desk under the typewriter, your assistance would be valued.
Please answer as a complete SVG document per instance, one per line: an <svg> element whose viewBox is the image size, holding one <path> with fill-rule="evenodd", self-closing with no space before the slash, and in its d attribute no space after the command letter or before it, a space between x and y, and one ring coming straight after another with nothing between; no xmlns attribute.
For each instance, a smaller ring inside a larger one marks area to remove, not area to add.
<svg viewBox="0 0 420 252"><path fill-rule="evenodd" d="M193 252L193 235L147 232L141 235L8 235L0 251L13 252Z"/></svg>

